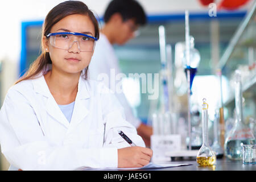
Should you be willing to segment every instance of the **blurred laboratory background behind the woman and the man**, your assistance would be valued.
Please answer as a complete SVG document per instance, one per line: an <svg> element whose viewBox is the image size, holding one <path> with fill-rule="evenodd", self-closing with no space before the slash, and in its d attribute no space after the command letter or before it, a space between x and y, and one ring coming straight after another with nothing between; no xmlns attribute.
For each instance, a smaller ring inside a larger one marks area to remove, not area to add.
<svg viewBox="0 0 256 182"><path fill-rule="evenodd" d="M10 86L40 55L43 20L60 2L1 1L1 106ZM110 1L82 2L102 27ZM217 160L239 158L246 163L240 144L256 150L256 1L138 2L147 24L136 38L114 49L126 75L122 84L127 101L134 115L153 127L154 159L197 156L200 164L207 153ZM129 77L135 73L137 77ZM153 94L158 97L150 99ZM237 145L240 149L226 150ZM251 158L256 163L255 156ZM9 168L3 154L0 163L1 170Z"/></svg>

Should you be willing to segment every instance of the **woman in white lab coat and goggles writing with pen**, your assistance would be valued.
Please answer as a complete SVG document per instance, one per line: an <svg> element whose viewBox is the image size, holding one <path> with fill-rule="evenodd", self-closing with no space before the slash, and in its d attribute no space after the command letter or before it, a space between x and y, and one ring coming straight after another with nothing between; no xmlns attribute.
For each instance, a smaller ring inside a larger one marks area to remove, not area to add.
<svg viewBox="0 0 256 182"><path fill-rule="evenodd" d="M113 93L86 79L99 38L97 20L80 1L49 11L42 54L6 94L0 142L9 169L142 167L152 150L123 117ZM137 146L129 147L122 130Z"/></svg>

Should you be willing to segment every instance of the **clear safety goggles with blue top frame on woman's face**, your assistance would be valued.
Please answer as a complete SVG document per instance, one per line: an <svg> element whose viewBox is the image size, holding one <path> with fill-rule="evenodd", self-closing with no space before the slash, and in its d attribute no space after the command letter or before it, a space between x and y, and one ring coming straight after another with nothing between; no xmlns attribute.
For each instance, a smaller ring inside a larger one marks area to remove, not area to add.
<svg viewBox="0 0 256 182"><path fill-rule="evenodd" d="M98 40L93 36L77 32L50 33L47 35L47 38L49 38L49 42L53 47L64 50L70 49L74 43L77 43L77 47L81 52L92 52Z"/></svg>

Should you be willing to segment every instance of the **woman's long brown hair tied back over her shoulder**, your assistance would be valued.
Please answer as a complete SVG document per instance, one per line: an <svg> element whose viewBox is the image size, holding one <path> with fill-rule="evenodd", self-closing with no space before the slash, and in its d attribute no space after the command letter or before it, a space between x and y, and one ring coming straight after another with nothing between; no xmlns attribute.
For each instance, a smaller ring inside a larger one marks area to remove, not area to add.
<svg viewBox="0 0 256 182"><path fill-rule="evenodd" d="M47 34L50 33L51 28L54 24L56 24L66 16L73 15L73 14L82 14L82 15L89 16L89 18L92 20L92 23L94 25L94 31L95 31L94 36L96 38L100 37L97 19L93 15L92 11L88 9L85 3L81 1L65 1L53 7L53 9L49 11L49 13L47 14L42 27L42 40L43 40L43 36L46 36ZM28 69L28 71L24 74L24 76L19 78L19 80L16 81L15 84L17 84L22 80L35 78L36 75L42 72L43 69L46 69L47 64L52 64L51 58L49 56L49 52L46 52L44 49L43 41L41 41L41 49L42 49L41 55L30 65L30 68ZM87 71L88 71L88 67L85 68L85 73L83 75L85 79L87 78Z"/></svg>

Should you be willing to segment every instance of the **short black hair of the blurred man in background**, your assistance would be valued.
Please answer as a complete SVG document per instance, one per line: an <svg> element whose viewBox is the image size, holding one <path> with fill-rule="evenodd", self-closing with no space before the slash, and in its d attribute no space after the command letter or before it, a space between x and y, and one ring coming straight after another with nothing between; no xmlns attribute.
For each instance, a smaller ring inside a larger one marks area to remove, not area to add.
<svg viewBox="0 0 256 182"><path fill-rule="evenodd" d="M110 2L104 14L104 22L108 22L115 13L121 14L123 21L134 19L135 23L139 25L147 23L142 6L135 0L113 0Z"/></svg>

